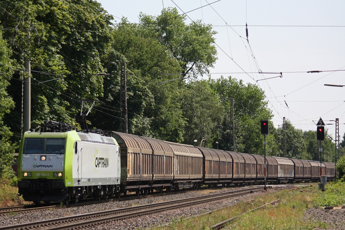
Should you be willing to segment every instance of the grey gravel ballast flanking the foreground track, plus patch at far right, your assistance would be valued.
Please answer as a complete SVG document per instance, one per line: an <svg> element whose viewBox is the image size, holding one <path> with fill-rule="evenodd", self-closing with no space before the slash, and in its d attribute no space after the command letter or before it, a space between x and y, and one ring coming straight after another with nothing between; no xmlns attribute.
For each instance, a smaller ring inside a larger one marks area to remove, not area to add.
<svg viewBox="0 0 345 230"><path fill-rule="evenodd" d="M247 187L248 188L248 187ZM42 210L30 213L20 213L9 216L0 216L0 226L8 226L19 223L34 222L39 220L54 219L59 217L73 216L83 213L98 212L111 209L119 209L125 207L138 206L142 204L157 203L169 200L178 200L189 197L203 196L208 193L220 193L225 191L236 191L243 189L243 187L231 187L225 189L210 189L210 190L195 190L195 191L186 191L178 194L164 194L163 196L147 196L139 197L138 199L125 200L125 201L114 201L106 202L99 204L90 204L85 206L78 207L62 207L58 209L51 210ZM267 192L275 192L280 189L286 189L286 187L281 187L277 189L267 190ZM201 213L205 213L211 210L215 210L222 207L231 206L241 200L249 200L255 196L261 195L261 192L246 194L237 198L228 198L220 201L209 202L207 204L199 204L195 206L184 207L180 209L168 210L164 212L158 212L149 214L146 216L132 218L130 220L118 220L111 221L106 224L101 224L97 226L90 226L85 229L145 229L148 227L161 226L171 222L172 220L187 218L190 216L195 216ZM326 215L331 215L330 217L324 217ZM344 229L344 220L345 220L345 209L335 209L335 210L318 210L318 209L308 209L305 215L305 220L309 221L311 218L315 221L329 222L333 224L337 223L338 226L343 226L342 228L335 229ZM318 216L319 215L319 216ZM342 225L341 225L342 224ZM334 225L332 225L334 226Z"/></svg>

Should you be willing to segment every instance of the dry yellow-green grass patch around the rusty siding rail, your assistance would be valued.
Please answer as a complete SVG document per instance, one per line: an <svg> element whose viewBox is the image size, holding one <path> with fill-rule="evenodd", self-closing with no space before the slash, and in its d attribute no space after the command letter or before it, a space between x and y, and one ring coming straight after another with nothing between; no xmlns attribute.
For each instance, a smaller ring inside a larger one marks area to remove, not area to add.
<svg viewBox="0 0 345 230"><path fill-rule="evenodd" d="M327 228L322 222L304 220L304 212L314 208L314 201L320 196L317 186L297 190L283 190L274 193L262 193L255 197L253 202L239 202L234 206L217 210L204 216L189 219L175 219L169 226L151 227L151 229L210 229L216 223L235 217L248 210L265 203L281 199L276 205L266 206L263 209L242 215L231 221L227 229L314 229Z"/></svg>

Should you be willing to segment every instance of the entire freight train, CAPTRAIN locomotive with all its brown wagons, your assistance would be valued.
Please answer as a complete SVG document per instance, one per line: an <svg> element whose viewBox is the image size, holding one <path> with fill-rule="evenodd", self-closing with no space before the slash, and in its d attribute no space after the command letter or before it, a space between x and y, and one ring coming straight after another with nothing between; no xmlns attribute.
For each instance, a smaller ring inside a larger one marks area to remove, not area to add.
<svg viewBox="0 0 345 230"><path fill-rule="evenodd" d="M18 189L35 203L108 199L127 192L147 194L264 182L264 157L132 134L78 131L46 121L20 141ZM266 156L266 181L318 181L316 161ZM335 178L335 165L322 162L322 175Z"/></svg>

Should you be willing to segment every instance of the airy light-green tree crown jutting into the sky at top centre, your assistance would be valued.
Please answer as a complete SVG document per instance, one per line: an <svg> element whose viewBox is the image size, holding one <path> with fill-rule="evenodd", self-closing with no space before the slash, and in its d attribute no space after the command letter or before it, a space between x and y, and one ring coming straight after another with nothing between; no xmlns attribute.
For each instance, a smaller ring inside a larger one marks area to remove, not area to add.
<svg viewBox="0 0 345 230"><path fill-rule="evenodd" d="M149 36L159 40L178 61L184 78L196 77L213 67L217 50L213 37L216 31L211 25L200 20L186 24L186 16L180 15L176 8L165 8L157 17L140 14L139 19L145 26L151 26L147 29ZM156 23L159 29L152 33Z"/></svg>

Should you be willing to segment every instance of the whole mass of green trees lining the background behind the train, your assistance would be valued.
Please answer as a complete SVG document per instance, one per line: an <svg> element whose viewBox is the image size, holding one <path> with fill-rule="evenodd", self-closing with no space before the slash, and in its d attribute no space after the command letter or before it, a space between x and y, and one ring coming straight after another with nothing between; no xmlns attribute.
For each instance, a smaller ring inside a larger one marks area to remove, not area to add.
<svg viewBox="0 0 345 230"><path fill-rule="evenodd" d="M204 138L206 147L264 154L260 120L269 120L266 153L285 156L285 131L273 126L262 89L230 76L198 80L217 60L211 25L188 24L176 8L166 8L114 27L94 0L3 0L0 6L0 173L9 169L21 136L24 59L32 70L32 128L44 120L82 128L80 100L88 99L98 101L89 126L120 131L125 62L129 133L185 144ZM287 157L317 160L315 135L287 120ZM323 159L333 161L332 140L326 137L322 147Z"/></svg>

